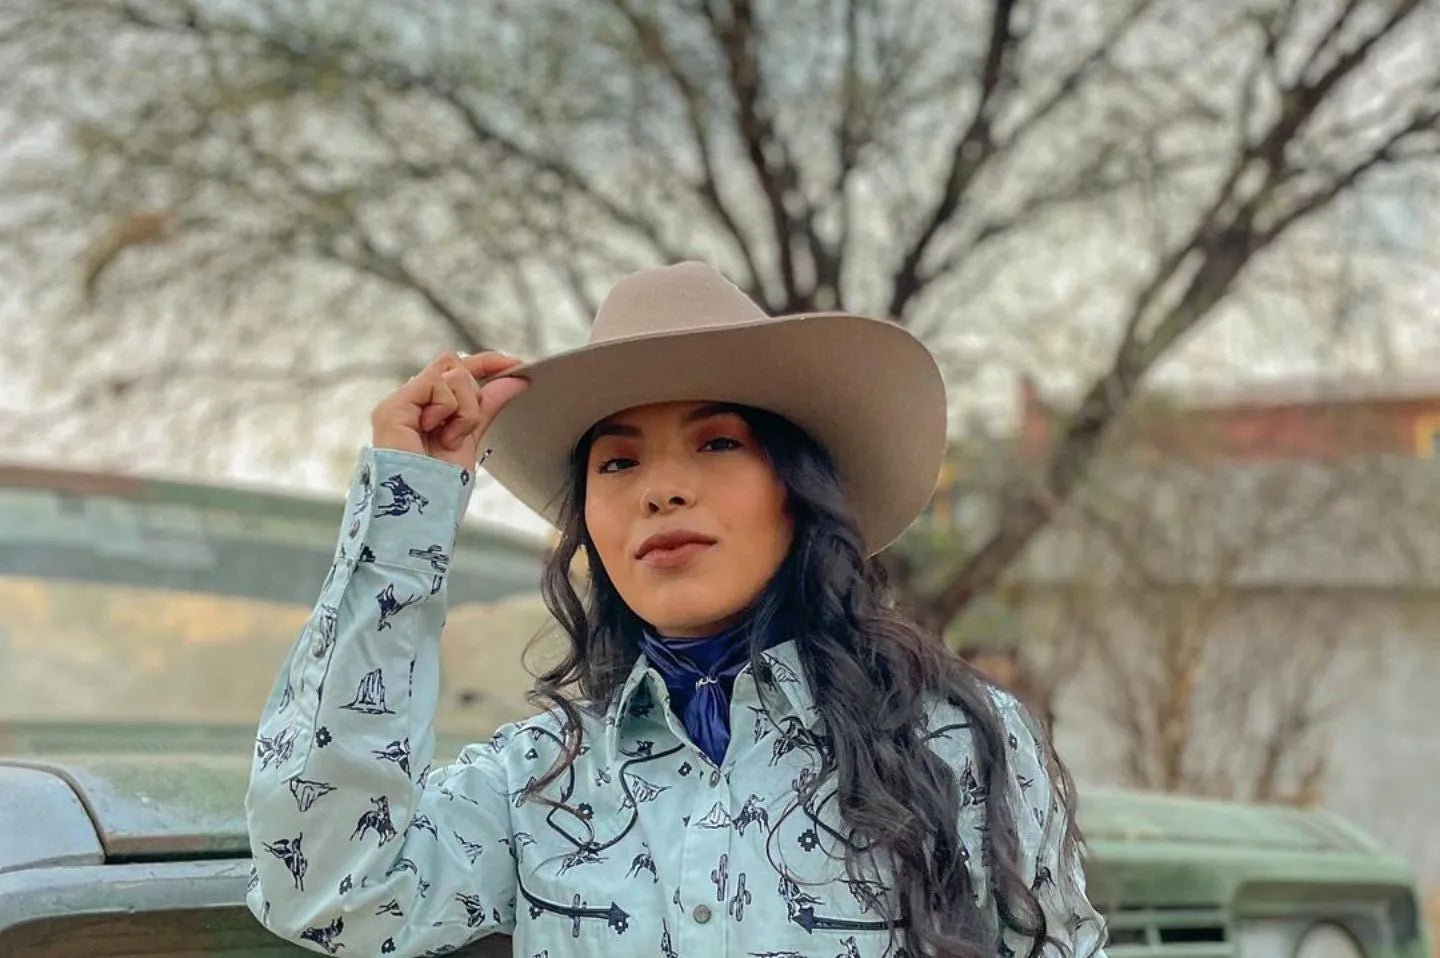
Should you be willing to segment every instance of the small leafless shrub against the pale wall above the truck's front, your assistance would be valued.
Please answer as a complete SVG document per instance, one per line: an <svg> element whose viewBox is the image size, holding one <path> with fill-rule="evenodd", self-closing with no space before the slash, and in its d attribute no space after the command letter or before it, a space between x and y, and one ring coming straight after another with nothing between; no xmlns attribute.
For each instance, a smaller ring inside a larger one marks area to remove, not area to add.
<svg viewBox="0 0 1440 958"><path fill-rule="evenodd" d="M1320 679L1341 631L1333 619L1315 621L1313 596L1272 596L1247 621L1241 570L1283 542L1292 523L1319 520L1326 503L1296 509L1287 480L1267 477L1264 506L1230 521L1221 516L1238 496L1227 473L1148 475L1165 491L1125 501L1123 513L1117 503L1089 504L1086 524L1123 559L1103 589L1107 608L1092 605L1077 631L1102 663L1106 713L1125 743L1132 784L1302 800L1325 771L1319 733L1335 703L1320 704ZM1269 713L1261 728L1244 728L1257 722L1257 706ZM1217 740L1224 748L1214 748ZM1282 776L1282 762L1295 771Z"/></svg>

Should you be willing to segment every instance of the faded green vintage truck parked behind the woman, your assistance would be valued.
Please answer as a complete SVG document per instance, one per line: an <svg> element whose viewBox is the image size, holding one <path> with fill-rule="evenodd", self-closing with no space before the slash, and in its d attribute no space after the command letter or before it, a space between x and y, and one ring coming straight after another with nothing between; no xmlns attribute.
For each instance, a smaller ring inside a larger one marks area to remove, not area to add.
<svg viewBox="0 0 1440 958"><path fill-rule="evenodd" d="M245 909L242 797L338 521L333 500L0 468L0 958L308 954ZM462 529L438 755L526 710L543 550ZM1081 825L1113 958L1430 955L1405 866L1333 815L1086 788Z"/></svg>

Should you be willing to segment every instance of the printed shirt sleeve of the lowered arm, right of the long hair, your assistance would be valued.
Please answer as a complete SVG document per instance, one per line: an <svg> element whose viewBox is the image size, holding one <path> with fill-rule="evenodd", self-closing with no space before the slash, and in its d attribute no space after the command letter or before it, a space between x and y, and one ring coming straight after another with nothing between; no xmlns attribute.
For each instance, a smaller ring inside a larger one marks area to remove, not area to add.
<svg viewBox="0 0 1440 958"><path fill-rule="evenodd" d="M1011 745L1012 794L1020 797L1015 828L1020 867L1031 876L1031 890L1045 913L1045 958L1104 958L1104 918L1086 895L1080 849L1066 850L1066 814L1057 782L1045 761L1038 726L1018 702L1001 706ZM1004 934L1001 955L1025 955L1031 942ZM1058 949L1057 949L1058 944Z"/></svg>

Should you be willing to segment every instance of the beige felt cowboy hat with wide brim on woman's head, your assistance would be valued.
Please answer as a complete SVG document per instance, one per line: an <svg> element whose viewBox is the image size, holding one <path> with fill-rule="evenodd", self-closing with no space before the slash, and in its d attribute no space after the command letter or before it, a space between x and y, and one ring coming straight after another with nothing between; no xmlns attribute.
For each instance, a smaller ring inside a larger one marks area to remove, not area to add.
<svg viewBox="0 0 1440 958"><path fill-rule="evenodd" d="M766 315L700 262L625 277L586 346L507 375L530 388L487 431L484 467L552 523L579 438L652 402L759 406L809 432L835 460L870 553L926 507L945 455L945 385L914 336L848 313Z"/></svg>

